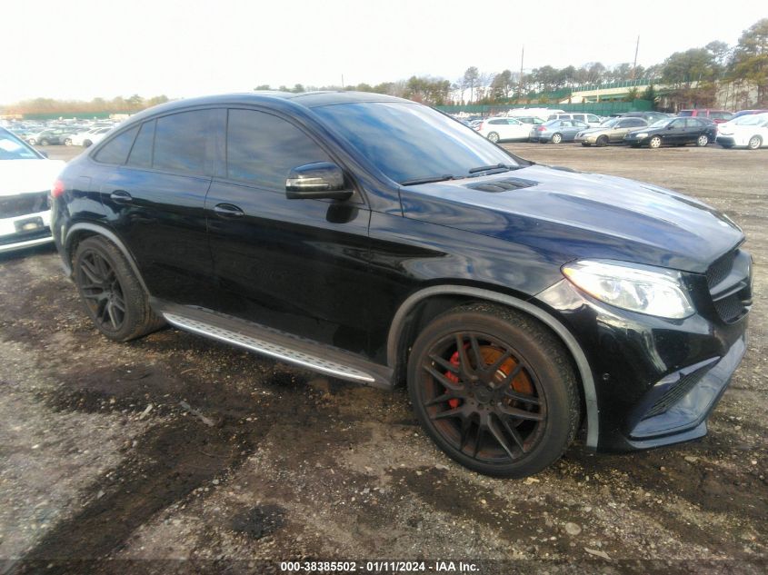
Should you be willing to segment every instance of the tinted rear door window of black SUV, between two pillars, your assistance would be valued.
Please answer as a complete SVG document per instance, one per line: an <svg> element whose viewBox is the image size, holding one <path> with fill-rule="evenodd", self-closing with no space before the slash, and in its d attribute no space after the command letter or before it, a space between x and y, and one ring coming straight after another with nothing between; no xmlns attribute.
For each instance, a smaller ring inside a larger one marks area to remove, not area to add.
<svg viewBox="0 0 768 575"><path fill-rule="evenodd" d="M171 172L205 173L208 117L208 110L197 110L158 118L152 166Z"/></svg>

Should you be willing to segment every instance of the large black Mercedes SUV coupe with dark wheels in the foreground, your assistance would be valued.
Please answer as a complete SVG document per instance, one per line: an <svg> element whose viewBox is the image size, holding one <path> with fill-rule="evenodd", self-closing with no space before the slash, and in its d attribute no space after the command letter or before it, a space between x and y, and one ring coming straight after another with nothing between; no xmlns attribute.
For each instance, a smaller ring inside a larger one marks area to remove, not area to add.
<svg viewBox="0 0 768 575"><path fill-rule="evenodd" d="M136 114L65 167L55 243L124 342L165 323L390 388L455 461L521 477L585 428L706 433L752 258L686 197L527 162L377 94L232 94Z"/></svg>

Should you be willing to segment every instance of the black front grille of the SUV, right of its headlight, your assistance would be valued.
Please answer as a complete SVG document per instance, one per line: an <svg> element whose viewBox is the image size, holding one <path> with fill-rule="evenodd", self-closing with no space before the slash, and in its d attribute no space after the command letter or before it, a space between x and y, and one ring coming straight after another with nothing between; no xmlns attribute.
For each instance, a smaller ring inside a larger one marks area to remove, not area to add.
<svg viewBox="0 0 768 575"><path fill-rule="evenodd" d="M726 323L740 320L752 305L752 258L734 250L713 263L706 272L714 309Z"/></svg>

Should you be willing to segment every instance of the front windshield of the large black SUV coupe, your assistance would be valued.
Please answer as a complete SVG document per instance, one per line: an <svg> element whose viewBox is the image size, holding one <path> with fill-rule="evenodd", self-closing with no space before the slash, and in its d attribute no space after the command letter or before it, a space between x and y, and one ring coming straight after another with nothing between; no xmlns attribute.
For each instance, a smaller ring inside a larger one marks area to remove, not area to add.
<svg viewBox="0 0 768 575"><path fill-rule="evenodd" d="M480 175L470 172L479 166L519 165L482 135L424 105L365 102L313 111L397 183Z"/></svg>

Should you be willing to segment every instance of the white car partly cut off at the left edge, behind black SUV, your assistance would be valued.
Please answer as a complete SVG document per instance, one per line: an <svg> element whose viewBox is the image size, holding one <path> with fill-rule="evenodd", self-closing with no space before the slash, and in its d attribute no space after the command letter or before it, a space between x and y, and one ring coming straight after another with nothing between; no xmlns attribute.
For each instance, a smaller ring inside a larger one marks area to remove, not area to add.
<svg viewBox="0 0 768 575"><path fill-rule="evenodd" d="M48 197L64 165L0 128L0 252L53 242Z"/></svg>

